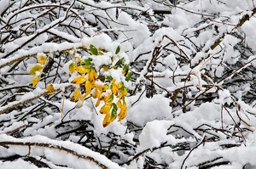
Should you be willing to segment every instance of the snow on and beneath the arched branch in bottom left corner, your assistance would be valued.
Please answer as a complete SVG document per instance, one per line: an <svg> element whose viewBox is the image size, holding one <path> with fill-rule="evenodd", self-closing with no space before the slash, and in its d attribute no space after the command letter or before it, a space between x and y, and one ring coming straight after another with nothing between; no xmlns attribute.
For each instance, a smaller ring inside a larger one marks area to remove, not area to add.
<svg viewBox="0 0 256 169"><path fill-rule="evenodd" d="M79 144L73 144L69 141L56 141L51 140L49 138L46 138L44 136L33 136L31 138L12 138L10 136L7 136L5 134L0 135L1 142L17 142L17 143L37 143L37 144L49 144L50 146L48 148L42 149L42 147L39 146L32 146L31 155L45 155L47 159L50 159L51 161L57 163L57 164L66 164L67 166L74 167L74 168L84 168L84 166L90 166L90 168L100 168L99 166L96 166L93 164L93 161L86 161L84 159L79 159L77 156L68 153L68 152L61 152L61 149L70 149L71 151L77 152L79 155L85 155L87 157L92 157L94 160L98 161L100 164L107 166L109 168L118 169L122 168L118 166L117 164L113 163L112 161L109 161L108 158L104 155L101 155L99 153L93 152L90 149L87 149ZM61 149L57 149L55 146L60 146ZM24 146L23 146L24 147ZM51 148L53 147L53 149ZM1 148L4 149L4 148ZM11 150L15 153L18 153L19 155L24 155L28 151L28 149L20 149L20 146L14 146L11 148ZM63 151L63 150L62 150ZM55 155L58 153L58 155ZM64 158L65 157L65 158ZM76 161L76 162L74 162ZM20 162L15 163L16 165L20 165ZM11 164L11 165L15 165ZM21 162L22 164L22 162ZM8 165L4 164L3 165ZM27 164L26 164L27 165ZM9 167L9 166L8 166ZM16 166L17 167L17 166ZM29 166L30 167L30 166ZM38 167L35 167L38 168Z"/></svg>

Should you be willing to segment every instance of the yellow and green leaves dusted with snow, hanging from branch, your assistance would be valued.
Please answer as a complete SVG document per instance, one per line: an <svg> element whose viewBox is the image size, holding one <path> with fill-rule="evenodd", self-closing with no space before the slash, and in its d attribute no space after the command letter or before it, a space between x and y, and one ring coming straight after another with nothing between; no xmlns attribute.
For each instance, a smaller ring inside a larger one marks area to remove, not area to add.
<svg viewBox="0 0 256 169"><path fill-rule="evenodd" d="M68 72L75 76L71 83L77 85L73 91L71 101L77 103L75 106L77 109L83 106L86 97L96 99L96 107L103 103L99 111L102 115L105 115L102 125L107 127L117 117L121 121L127 114L125 96L128 93L128 88L125 87L125 84L131 78L131 70L129 65L125 64L125 58L118 55L120 52L119 46L113 56L104 56L108 51L96 48L92 44L90 44L89 48L90 57L86 56L86 59L80 56L82 52L78 53L76 48L65 51L72 59L72 62L67 63ZM88 48L84 47L84 50L88 53ZM94 59L94 57L110 57L112 62L109 64L109 62L103 61L102 65L99 65L101 62L96 62L97 59ZM32 66L30 70L30 74L34 76L32 78L33 87L40 80L44 64L47 62L46 54L38 54L37 61L38 63ZM113 77L109 73L113 70L119 76ZM118 77L119 80L116 79ZM123 79L124 82L120 79ZM45 89L49 94L55 93L55 88L52 84L49 84Z"/></svg>

